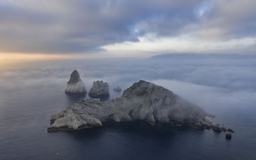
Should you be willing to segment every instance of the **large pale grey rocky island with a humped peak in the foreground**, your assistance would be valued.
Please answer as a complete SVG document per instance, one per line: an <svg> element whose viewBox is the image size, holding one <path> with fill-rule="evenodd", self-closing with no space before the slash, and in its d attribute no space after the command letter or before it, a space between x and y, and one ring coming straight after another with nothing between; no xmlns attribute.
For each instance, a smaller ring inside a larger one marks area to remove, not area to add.
<svg viewBox="0 0 256 160"><path fill-rule="evenodd" d="M100 99L84 99L51 116L47 131L77 130L102 126L106 120L131 122L143 120L179 127L211 129L205 119L207 113L195 104L175 95L172 91L147 81L132 84L123 95L106 102Z"/></svg>

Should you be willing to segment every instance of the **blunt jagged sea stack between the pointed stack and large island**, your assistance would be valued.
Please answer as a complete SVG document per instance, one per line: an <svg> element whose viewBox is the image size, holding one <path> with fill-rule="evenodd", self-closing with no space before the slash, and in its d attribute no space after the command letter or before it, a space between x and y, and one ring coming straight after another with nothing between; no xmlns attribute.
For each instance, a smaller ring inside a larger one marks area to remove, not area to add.
<svg viewBox="0 0 256 160"><path fill-rule="evenodd" d="M93 98L109 97L108 83L104 83L103 81L94 81L89 95Z"/></svg>

